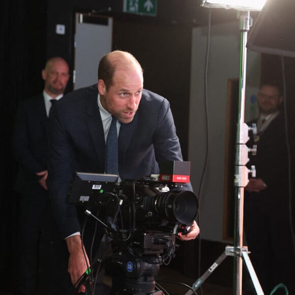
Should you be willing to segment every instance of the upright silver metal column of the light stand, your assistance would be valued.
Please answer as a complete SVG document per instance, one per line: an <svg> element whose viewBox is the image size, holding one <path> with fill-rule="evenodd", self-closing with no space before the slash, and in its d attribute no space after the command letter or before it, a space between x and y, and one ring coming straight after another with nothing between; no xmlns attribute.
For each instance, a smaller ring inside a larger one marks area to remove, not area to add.
<svg viewBox="0 0 295 295"><path fill-rule="evenodd" d="M247 65L247 35L250 29L250 11L241 12L241 55L240 55L240 96L239 96L239 123L237 128L237 146L235 160L235 234L234 246L243 247L243 216L244 216L244 187L248 183L248 171L241 162L243 154L242 146L248 141L248 131L245 134L245 93L246 93L246 65ZM245 138L247 137L246 141ZM245 163L246 164L246 163ZM236 295L242 294L242 257L234 257L234 292Z"/></svg>

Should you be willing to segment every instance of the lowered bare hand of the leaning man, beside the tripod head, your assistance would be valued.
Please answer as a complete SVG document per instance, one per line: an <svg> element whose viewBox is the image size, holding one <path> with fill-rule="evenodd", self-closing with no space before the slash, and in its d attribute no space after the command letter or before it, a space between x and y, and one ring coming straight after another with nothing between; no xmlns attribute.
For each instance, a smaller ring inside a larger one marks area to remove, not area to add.
<svg viewBox="0 0 295 295"><path fill-rule="evenodd" d="M83 254L82 246L81 246L81 237L80 235L73 235L66 239L68 250L70 252L69 265L68 265L68 273L71 276L72 284L75 286L81 276L87 270L87 265L85 261L85 257ZM86 255L86 253L85 253ZM89 265L89 260L86 255L87 264ZM85 292L85 286L81 285L79 287L78 293Z"/></svg>

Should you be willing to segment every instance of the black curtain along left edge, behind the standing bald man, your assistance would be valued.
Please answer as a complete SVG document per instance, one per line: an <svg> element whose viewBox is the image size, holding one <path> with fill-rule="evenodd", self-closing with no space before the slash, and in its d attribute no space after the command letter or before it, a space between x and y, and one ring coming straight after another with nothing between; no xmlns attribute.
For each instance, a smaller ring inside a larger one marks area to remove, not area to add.
<svg viewBox="0 0 295 295"><path fill-rule="evenodd" d="M0 276L2 291L15 285L18 224L17 196L13 184L17 165L11 150L14 116L19 102L42 91L45 61L46 2L1 1L0 24ZM25 271L25 270L24 270ZM5 282L5 283L4 283ZM4 289L3 289L4 288Z"/></svg>

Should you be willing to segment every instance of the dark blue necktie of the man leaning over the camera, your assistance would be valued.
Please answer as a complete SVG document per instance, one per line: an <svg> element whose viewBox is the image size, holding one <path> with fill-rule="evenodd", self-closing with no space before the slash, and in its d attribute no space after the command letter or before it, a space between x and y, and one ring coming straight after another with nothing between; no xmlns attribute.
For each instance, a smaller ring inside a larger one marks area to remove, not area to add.
<svg viewBox="0 0 295 295"><path fill-rule="evenodd" d="M106 139L105 171L107 174L118 174L118 134L117 119L112 116L112 122Z"/></svg>

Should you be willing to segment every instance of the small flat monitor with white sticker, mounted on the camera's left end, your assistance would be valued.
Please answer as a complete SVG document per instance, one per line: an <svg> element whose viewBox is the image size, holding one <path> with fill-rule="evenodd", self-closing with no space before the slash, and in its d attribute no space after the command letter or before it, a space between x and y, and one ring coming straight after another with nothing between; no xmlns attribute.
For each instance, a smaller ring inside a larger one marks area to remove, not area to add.
<svg viewBox="0 0 295 295"><path fill-rule="evenodd" d="M68 192L68 203L97 203L106 193L112 193L118 180L115 174L74 172Z"/></svg>

